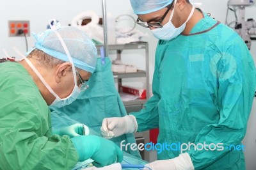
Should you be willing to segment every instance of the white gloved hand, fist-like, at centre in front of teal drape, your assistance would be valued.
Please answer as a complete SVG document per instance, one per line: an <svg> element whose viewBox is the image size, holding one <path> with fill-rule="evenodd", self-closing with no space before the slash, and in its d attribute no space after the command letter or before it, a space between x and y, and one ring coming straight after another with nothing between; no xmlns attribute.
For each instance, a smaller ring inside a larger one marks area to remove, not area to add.
<svg viewBox="0 0 256 170"><path fill-rule="evenodd" d="M138 124L133 115L127 115L121 118L104 118L100 128L103 137L110 139L123 134L136 132Z"/></svg>

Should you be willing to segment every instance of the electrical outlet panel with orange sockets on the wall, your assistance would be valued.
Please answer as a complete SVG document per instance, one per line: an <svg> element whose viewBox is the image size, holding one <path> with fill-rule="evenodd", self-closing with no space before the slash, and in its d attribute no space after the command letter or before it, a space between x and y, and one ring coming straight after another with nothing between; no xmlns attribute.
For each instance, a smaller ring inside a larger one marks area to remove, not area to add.
<svg viewBox="0 0 256 170"><path fill-rule="evenodd" d="M30 36L29 20L9 20L9 36Z"/></svg>

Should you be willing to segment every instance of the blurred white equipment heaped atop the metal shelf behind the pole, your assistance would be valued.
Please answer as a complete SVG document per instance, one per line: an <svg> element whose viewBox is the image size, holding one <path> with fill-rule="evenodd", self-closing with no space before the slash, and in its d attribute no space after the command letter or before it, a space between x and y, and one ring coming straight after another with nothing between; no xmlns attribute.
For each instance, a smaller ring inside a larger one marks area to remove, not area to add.
<svg viewBox="0 0 256 170"><path fill-rule="evenodd" d="M140 42L143 36L148 36L147 33L134 29L136 23L131 15L124 14L114 17L111 13L107 13L106 19L108 44L110 45ZM102 19L97 13L85 11L74 17L71 26L78 27L86 32L97 44L103 44L104 28L102 24Z"/></svg>

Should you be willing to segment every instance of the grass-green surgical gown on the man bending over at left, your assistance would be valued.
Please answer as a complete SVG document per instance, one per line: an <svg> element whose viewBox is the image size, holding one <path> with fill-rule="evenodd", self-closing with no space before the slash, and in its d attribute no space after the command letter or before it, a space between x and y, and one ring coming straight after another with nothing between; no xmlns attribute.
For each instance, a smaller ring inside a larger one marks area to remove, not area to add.
<svg viewBox="0 0 256 170"><path fill-rule="evenodd" d="M0 63L0 169L72 169L67 135L51 135L51 112L22 65Z"/></svg>

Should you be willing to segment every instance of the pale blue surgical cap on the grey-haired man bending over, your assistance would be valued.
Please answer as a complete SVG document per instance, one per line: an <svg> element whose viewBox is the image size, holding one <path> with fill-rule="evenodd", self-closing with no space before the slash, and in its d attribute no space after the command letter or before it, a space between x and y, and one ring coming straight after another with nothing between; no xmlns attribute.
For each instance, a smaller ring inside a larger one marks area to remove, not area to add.
<svg viewBox="0 0 256 170"><path fill-rule="evenodd" d="M97 61L97 49L89 36L77 27L60 26L59 22L57 31L66 44L74 65L77 68L93 73ZM33 49L42 50L54 58L69 62L60 39L52 29L47 29L42 33L38 33L38 35L33 34L33 36L36 39ZM33 49L31 49L27 55Z"/></svg>

